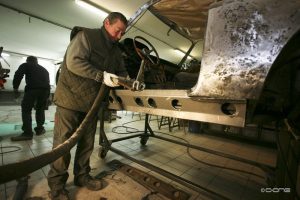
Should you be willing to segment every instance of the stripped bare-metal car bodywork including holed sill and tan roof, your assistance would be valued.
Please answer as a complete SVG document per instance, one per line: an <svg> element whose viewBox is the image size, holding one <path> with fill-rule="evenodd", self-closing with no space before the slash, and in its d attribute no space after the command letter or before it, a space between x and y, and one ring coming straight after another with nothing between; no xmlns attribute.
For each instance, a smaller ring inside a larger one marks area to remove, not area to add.
<svg viewBox="0 0 300 200"><path fill-rule="evenodd" d="M283 67L287 56L281 54L288 54L283 49L292 46L292 37L299 38L300 1L152 0L136 12L131 25L146 10L191 41L187 53L204 41L198 81L184 90L116 90L110 95L111 109L244 127L257 105L268 104L268 98L262 99L264 88L274 82L268 80L286 84L270 71ZM279 90L269 97L275 110L282 109L278 104L286 98L281 95L285 87Z"/></svg>

